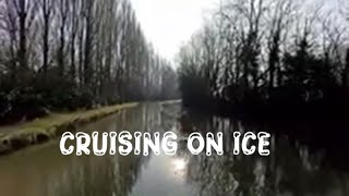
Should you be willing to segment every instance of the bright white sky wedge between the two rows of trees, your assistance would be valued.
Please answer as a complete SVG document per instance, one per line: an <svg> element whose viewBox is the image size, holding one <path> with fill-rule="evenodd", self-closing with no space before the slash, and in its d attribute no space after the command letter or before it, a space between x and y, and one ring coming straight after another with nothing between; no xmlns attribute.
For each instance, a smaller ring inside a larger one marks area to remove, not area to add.
<svg viewBox="0 0 349 196"><path fill-rule="evenodd" d="M173 62L180 46L204 22L204 12L219 0L131 0L145 36L155 50Z"/></svg>

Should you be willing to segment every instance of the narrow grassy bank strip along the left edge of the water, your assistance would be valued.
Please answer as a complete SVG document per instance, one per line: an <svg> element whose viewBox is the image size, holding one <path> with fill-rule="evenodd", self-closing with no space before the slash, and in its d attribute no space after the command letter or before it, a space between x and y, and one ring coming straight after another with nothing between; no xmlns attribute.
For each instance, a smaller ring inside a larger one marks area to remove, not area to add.
<svg viewBox="0 0 349 196"><path fill-rule="evenodd" d="M139 103L123 103L73 113L52 113L32 122L0 127L0 156L31 145L41 144L59 137L62 133L76 131L76 127L97 121Z"/></svg>

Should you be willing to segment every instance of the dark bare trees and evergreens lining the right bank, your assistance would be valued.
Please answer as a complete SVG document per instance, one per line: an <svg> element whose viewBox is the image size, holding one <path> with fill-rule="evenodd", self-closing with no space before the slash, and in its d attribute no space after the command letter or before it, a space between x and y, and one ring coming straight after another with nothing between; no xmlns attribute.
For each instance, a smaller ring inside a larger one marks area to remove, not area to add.
<svg viewBox="0 0 349 196"><path fill-rule="evenodd" d="M275 115L349 109L349 13L336 3L224 0L179 53L183 102Z"/></svg>

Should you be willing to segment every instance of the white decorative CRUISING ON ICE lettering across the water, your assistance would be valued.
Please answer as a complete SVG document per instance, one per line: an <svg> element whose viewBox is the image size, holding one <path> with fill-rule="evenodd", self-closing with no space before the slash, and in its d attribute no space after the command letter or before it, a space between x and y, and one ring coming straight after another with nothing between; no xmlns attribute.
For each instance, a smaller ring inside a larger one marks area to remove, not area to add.
<svg viewBox="0 0 349 196"><path fill-rule="evenodd" d="M161 135L161 136L160 136ZM161 137L161 138L160 138ZM233 132L232 154L239 155L240 152L250 156L258 152L261 156L269 155L269 139L270 134L260 132L257 134L248 132L241 134ZM205 152L207 156L224 155L224 134L221 132L213 134L192 133L184 139L178 139L173 132L160 133L141 133L123 131L117 132L94 132L87 134L84 132L71 133L65 132L60 139L60 150L64 156L69 155L93 155L105 156L116 155L117 152L122 156L130 154L148 156L151 150L154 155L160 155L161 151L166 155L173 156L178 149L178 142L181 144L186 143L186 148L193 155Z"/></svg>

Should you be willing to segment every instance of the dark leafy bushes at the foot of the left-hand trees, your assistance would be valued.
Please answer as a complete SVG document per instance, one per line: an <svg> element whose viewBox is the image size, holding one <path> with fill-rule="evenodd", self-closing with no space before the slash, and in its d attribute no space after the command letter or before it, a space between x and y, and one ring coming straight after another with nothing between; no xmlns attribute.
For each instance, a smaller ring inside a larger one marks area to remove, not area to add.
<svg viewBox="0 0 349 196"><path fill-rule="evenodd" d="M45 117L49 110L74 111L91 109L95 105L89 88L81 88L70 79L53 75L43 77L39 74L21 85L1 81L0 84L0 124Z"/></svg>

